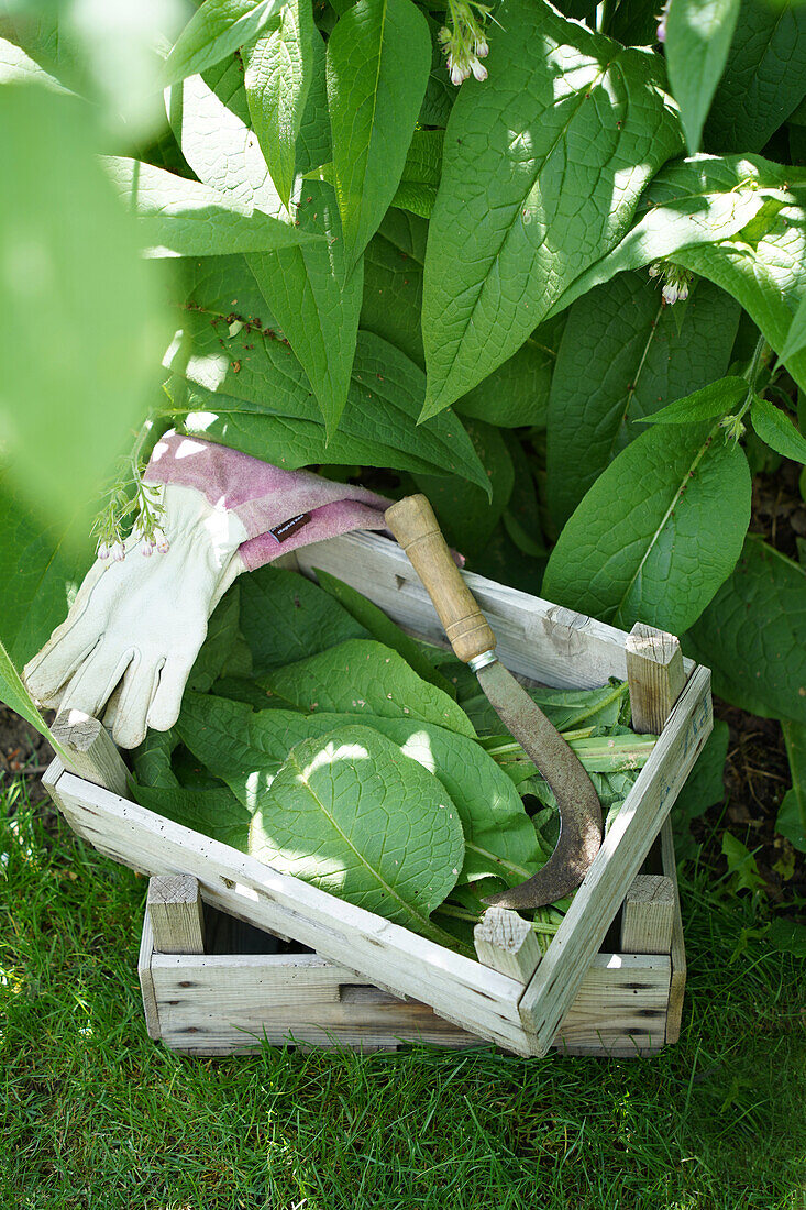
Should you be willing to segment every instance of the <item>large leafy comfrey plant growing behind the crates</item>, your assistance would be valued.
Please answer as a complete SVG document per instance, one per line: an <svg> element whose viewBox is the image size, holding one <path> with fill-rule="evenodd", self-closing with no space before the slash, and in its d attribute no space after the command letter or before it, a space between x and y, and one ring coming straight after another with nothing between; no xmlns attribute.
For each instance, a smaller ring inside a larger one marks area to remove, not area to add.
<svg viewBox="0 0 806 1210"><path fill-rule="evenodd" d="M801 837L802 543L753 519L752 491L777 476L794 515L805 490L806 7L205 0L165 31L165 117L137 157L65 96L94 76L58 5L52 25L0 27L0 146L27 165L0 264L35 215L36 264L74 292L56 312L41 275L0 277L0 432L58 399L61 434L38 422L17 480L35 494L6 492L13 659L92 557L64 541L68 489L162 375L155 424L424 490L471 569L683 635L721 697L784 720L781 826ZM161 544L126 478L94 535L113 559L138 513L143 553Z"/></svg>

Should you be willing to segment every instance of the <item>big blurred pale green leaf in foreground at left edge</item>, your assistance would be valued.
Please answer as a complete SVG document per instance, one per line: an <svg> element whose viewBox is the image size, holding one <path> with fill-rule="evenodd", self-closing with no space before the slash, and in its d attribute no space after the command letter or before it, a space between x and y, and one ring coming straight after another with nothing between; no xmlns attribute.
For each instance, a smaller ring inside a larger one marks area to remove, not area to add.
<svg viewBox="0 0 806 1210"><path fill-rule="evenodd" d="M0 430L46 522L91 503L131 444L166 332L94 138L69 97L0 87Z"/></svg>

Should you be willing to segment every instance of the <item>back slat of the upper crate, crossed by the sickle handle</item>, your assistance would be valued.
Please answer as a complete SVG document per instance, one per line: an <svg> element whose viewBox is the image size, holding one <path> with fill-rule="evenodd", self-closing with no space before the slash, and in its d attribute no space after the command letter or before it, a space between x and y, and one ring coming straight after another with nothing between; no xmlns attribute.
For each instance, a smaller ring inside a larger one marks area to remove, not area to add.
<svg viewBox="0 0 806 1210"><path fill-rule="evenodd" d="M364 593L399 626L445 646L436 610L397 543L376 534L349 534L295 552L305 575L321 567ZM496 655L512 672L545 685L593 688L627 676L627 634L539 597L462 572L497 640ZM693 668L684 661L686 674Z"/></svg>

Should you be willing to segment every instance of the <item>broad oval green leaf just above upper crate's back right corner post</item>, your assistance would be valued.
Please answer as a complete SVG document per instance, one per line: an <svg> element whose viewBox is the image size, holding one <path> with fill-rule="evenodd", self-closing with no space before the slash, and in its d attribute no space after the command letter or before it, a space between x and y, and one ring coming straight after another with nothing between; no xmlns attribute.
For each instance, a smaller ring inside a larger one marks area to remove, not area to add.
<svg viewBox="0 0 806 1210"><path fill-rule="evenodd" d="M675 436L654 426L599 476L552 551L549 600L624 629L693 624L741 553L750 473L710 425Z"/></svg>

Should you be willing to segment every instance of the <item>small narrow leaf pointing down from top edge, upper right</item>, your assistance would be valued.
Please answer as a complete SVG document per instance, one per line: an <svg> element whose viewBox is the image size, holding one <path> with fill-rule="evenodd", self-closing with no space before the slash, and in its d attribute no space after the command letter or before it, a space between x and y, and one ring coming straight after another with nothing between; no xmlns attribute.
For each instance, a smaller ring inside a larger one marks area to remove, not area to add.
<svg viewBox="0 0 806 1210"><path fill-rule="evenodd" d="M739 0L672 0L669 4L666 62L692 155L700 150L702 128L725 68L738 11Z"/></svg>

